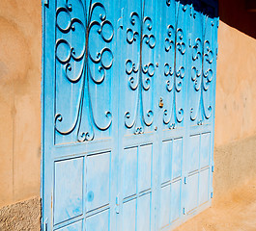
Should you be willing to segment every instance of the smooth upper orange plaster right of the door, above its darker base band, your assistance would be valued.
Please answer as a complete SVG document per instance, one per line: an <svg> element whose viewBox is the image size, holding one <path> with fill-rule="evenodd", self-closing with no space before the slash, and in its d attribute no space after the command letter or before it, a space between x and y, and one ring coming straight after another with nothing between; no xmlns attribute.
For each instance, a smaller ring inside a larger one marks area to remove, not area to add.
<svg viewBox="0 0 256 231"><path fill-rule="evenodd" d="M256 134L256 39L220 21L218 44L215 146Z"/></svg>

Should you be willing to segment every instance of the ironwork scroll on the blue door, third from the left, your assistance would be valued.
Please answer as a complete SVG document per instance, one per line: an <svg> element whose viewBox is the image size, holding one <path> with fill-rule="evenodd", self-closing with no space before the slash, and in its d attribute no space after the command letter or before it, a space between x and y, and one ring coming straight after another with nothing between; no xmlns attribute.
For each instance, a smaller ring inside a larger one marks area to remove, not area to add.
<svg viewBox="0 0 256 231"><path fill-rule="evenodd" d="M179 57L185 56L185 39L184 31L178 26L179 13L186 11L186 6L177 3L177 15L175 27L173 25L167 26L167 37L165 39L165 52L170 52L174 49L174 63L164 64L164 76L166 80L166 90L169 93L173 93L173 105L171 112L168 109L164 110L163 123L169 124L169 129L176 128L176 122L181 123L184 120L184 108L178 107L177 95L183 90L183 82L185 78L185 66L181 62L178 62ZM170 0L166 1L167 7L170 7ZM180 60L180 59L179 59Z"/></svg>

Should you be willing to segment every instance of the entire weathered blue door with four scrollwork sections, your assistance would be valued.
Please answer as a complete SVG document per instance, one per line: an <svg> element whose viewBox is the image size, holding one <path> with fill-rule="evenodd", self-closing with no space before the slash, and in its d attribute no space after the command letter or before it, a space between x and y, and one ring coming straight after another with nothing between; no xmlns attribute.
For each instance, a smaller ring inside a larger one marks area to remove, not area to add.
<svg viewBox="0 0 256 231"><path fill-rule="evenodd" d="M43 230L168 230L209 207L215 1L43 4Z"/></svg>

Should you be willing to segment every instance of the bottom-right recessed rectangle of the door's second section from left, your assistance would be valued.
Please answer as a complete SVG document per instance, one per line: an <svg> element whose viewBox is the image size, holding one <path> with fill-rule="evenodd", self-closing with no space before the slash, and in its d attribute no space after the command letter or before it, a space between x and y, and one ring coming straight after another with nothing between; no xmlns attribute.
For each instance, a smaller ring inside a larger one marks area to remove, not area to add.
<svg viewBox="0 0 256 231"><path fill-rule="evenodd" d="M151 230L151 193L138 198L136 231Z"/></svg>

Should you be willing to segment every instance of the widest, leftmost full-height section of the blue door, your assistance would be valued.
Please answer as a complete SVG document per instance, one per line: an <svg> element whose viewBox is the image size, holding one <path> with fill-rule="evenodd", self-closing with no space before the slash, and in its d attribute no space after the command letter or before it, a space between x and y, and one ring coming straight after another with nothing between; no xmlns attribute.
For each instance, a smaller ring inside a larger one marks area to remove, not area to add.
<svg viewBox="0 0 256 231"><path fill-rule="evenodd" d="M45 6L43 230L115 230L118 5Z"/></svg>

